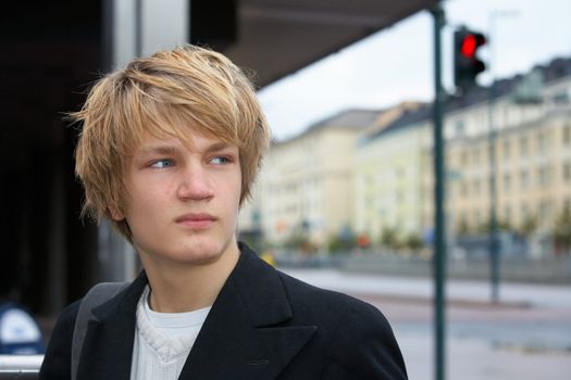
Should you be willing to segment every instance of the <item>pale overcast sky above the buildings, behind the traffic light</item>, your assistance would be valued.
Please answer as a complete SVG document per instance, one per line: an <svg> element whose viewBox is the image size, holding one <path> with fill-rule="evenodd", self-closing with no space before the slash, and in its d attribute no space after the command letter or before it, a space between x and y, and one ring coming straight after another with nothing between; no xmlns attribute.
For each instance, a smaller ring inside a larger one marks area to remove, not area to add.
<svg viewBox="0 0 571 380"><path fill-rule="evenodd" d="M452 90L452 34L458 25L484 33L481 49L492 78L571 58L571 0L448 0L444 3L444 86ZM420 12L259 91L276 140L347 109L384 109L432 101L433 17Z"/></svg>

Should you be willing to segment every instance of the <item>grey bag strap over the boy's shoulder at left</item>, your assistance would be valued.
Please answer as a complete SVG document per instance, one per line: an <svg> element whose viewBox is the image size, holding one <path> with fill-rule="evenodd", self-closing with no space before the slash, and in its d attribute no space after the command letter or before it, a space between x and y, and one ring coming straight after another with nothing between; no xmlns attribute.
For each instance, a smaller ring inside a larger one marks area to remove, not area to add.
<svg viewBox="0 0 571 380"><path fill-rule="evenodd" d="M111 300L127 284L128 282L98 283L87 292L79 303L72 341L72 380L76 380L77 378L77 367L79 366L79 357L82 356L85 334L87 333L87 324L94 317L91 309Z"/></svg>

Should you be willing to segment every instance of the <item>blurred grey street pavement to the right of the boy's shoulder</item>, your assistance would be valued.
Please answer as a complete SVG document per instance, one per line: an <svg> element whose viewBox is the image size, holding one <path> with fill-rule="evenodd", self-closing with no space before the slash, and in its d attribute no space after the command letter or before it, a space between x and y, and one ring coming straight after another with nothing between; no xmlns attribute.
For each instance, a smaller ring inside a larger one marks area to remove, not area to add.
<svg viewBox="0 0 571 380"><path fill-rule="evenodd" d="M409 378L434 379L432 280L333 269L282 269L342 291L383 311L400 344ZM489 303L487 282L447 283L447 379L569 379L571 287L500 284Z"/></svg>

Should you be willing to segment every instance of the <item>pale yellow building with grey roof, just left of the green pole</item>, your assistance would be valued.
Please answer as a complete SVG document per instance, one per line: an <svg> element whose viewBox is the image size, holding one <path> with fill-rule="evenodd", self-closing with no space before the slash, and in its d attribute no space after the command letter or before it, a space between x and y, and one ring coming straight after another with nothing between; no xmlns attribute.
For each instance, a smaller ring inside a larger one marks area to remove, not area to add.
<svg viewBox="0 0 571 380"><path fill-rule="evenodd" d="M396 235L399 241L424 235L424 205L430 202L426 176L431 163L430 109L404 113L384 129L363 135L358 142L355 168L353 219L358 235L373 244Z"/></svg>

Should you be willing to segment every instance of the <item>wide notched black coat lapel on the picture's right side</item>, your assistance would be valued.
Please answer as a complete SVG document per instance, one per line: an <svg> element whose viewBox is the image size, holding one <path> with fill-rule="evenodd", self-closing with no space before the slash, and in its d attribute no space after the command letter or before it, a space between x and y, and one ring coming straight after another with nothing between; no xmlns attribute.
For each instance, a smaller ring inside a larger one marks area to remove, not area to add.
<svg viewBox="0 0 571 380"><path fill-rule="evenodd" d="M209 313L179 379L274 379L315 332L288 326L277 273L246 245Z"/></svg>

